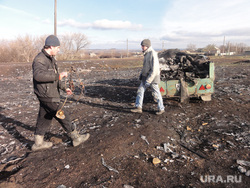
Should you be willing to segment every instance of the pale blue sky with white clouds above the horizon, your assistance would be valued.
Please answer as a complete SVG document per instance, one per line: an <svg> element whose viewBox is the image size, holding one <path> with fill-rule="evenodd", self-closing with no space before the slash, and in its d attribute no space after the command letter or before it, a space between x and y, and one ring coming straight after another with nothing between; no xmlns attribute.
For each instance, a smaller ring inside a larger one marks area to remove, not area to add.
<svg viewBox="0 0 250 188"><path fill-rule="evenodd" d="M249 0L57 0L57 34L85 34L90 49L250 46ZM54 33L54 0L0 0L0 39Z"/></svg>

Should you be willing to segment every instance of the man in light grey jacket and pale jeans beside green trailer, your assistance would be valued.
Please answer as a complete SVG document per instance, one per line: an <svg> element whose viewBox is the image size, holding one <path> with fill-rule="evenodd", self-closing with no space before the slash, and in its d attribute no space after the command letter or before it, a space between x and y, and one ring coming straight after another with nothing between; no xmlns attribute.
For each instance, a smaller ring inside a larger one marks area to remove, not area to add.
<svg viewBox="0 0 250 188"><path fill-rule="evenodd" d="M158 103L157 115L165 112L161 92L159 89L160 67L157 52L151 46L149 39L141 42L142 52L144 54L143 68L140 74L141 84L137 91L135 109L131 112L142 113L143 98L146 89L150 86L153 89L154 99Z"/></svg>

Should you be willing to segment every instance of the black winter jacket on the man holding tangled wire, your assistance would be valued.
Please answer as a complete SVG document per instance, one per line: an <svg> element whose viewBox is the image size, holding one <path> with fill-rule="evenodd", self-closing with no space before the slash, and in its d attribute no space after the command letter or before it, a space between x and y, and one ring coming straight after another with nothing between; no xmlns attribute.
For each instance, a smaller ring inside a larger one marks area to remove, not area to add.
<svg viewBox="0 0 250 188"><path fill-rule="evenodd" d="M59 89L65 86L59 81L59 73L54 57L44 49L35 57L33 64L34 93L44 102L60 102Z"/></svg>

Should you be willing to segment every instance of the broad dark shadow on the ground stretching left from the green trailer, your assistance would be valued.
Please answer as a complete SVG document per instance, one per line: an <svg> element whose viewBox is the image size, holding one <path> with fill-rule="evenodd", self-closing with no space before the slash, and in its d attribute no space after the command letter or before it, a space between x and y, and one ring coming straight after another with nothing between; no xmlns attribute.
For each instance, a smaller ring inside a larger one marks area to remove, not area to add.
<svg viewBox="0 0 250 188"><path fill-rule="evenodd" d="M96 84L96 85L95 85ZM95 82L94 85L85 86L85 92L80 100L77 96L72 98L72 101L78 101L81 104L86 104L93 107L104 108L116 112L131 113L130 109L134 106L136 94L140 81L138 79L110 79ZM80 93L80 92L78 92ZM84 100L84 96L90 98L101 99L102 102L94 102ZM120 105L114 105L112 102L119 104L129 104L128 108L121 108ZM144 104L154 103L151 88L148 88L144 95Z"/></svg>

